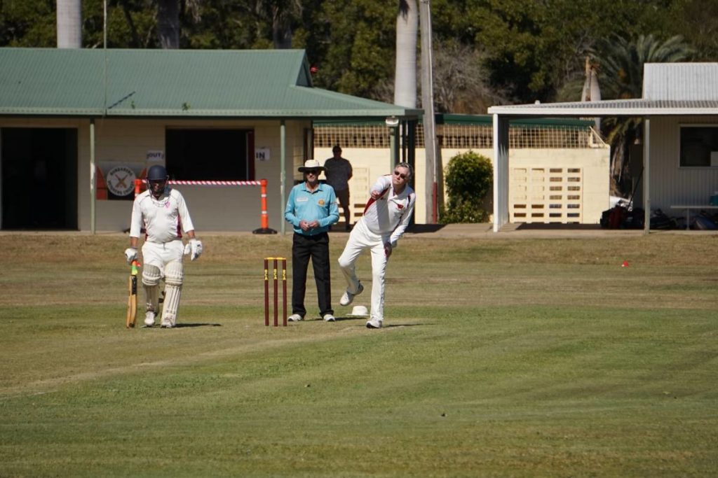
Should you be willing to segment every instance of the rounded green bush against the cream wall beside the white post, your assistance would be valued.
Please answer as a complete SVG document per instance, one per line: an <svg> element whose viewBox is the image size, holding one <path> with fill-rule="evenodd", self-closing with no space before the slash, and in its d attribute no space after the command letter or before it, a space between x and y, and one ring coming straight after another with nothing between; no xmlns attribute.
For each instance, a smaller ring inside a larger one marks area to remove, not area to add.
<svg viewBox="0 0 718 478"><path fill-rule="evenodd" d="M446 186L449 204L441 214L443 224L488 220L484 201L493 186L489 158L473 151L457 154L447 165Z"/></svg>

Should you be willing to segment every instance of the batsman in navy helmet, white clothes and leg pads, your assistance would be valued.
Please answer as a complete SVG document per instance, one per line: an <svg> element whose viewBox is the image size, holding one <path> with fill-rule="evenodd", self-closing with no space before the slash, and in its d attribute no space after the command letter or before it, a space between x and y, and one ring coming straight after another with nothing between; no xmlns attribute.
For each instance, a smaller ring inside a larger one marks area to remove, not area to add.
<svg viewBox="0 0 718 478"><path fill-rule="evenodd" d="M141 230L145 230L142 245L142 286L146 297L144 324L154 325L159 312L159 282L164 279L164 305L160 327L177 325L184 269L182 257L189 254L195 260L202 254L202 242L195 236L185 198L169 186L164 166L151 166L147 171L147 190L140 193L132 205L130 247L125 250L127 263L138 257L137 245ZM182 244L182 231L189 238Z"/></svg>

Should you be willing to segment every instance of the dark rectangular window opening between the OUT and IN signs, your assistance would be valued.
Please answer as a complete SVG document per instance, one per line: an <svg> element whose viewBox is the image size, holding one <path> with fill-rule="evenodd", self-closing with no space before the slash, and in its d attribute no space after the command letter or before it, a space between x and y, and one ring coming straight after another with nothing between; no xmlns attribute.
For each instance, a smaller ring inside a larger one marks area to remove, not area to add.
<svg viewBox="0 0 718 478"><path fill-rule="evenodd" d="M167 172L182 181L252 181L253 141L247 130L169 129ZM250 154L250 150L251 154Z"/></svg>

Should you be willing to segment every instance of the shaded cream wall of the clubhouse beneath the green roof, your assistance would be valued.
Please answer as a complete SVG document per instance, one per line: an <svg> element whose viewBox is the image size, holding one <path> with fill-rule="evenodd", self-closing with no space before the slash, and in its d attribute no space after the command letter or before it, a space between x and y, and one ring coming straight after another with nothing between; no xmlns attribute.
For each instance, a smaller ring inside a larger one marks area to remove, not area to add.
<svg viewBox="0 0 718 478"><path fill-rule="evenodd" d="M286 121L286 191L292 187L294 171L304 161L304 129L307 120ZM284 225L284 199L280 181L279 120L95 120L95 163L144 161L147 151L165 150L164 130L177 128L246 128L254 130L255 148L269 148L269 161L255 162L257 179L269 181L267 202L269 227L280 231ZM0 118L0 128L78 129L78 227L91 229L90 120ZM170 171L171 173L171 171ZM201 179L201 178L197 178ZM259 186L177 186L187 199L198 234L202 231L252 231L261 225ZM95 230L123 231L129 227L131 201L95 201Z"/></svg>

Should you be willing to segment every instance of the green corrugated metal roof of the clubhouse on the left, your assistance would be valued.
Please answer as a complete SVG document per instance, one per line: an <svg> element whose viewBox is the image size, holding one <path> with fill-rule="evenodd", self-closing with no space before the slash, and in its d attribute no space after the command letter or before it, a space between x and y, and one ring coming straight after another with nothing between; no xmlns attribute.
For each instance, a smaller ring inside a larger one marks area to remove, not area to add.
<svg viewBox="0 0 718 478"><path fill-rule="evenodd" d="M1 48L0 65L0 115L421 115L312 87L304 50Z"/></svg>

